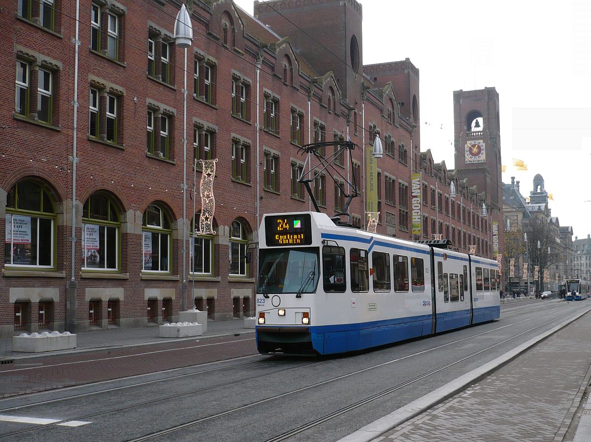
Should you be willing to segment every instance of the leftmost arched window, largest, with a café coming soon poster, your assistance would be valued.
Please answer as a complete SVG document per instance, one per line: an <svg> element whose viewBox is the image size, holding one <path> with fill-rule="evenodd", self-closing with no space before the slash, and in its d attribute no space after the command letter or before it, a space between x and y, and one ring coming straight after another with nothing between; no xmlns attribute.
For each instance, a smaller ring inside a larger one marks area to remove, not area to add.
<svg viewBox="0 0 591 442"><path fill-rule="evenodd" d="M56 209L48 189L21 180L8 192L4 258L6 267L54 267Z"/></svg>

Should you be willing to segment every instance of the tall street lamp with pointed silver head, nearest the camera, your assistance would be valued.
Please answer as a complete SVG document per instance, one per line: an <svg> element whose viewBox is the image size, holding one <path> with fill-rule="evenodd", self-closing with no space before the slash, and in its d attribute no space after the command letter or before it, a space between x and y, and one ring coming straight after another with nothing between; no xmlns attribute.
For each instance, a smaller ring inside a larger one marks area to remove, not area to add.
<svg viewBox="0 0 591 442"><path fill-rule="evenodd" d="M181 285L181 311L187 310L187 48L193 40L191 17L185 5L181 5L174 22L174 40L177 47L184 49L183 87L183 285ZM193 213L193 216L195 214Z"/></svg>

